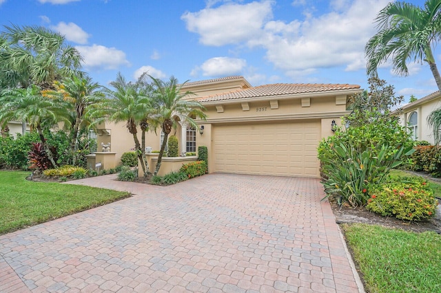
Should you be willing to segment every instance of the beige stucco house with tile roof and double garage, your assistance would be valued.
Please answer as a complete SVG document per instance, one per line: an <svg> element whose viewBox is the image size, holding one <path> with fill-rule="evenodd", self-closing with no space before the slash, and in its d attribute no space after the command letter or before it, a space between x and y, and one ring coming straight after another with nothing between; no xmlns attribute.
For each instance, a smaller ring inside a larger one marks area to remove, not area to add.
<svg viewBox="0 0 441 293"><path fill-rule="evenodd" d="M317 146L332 135L332 122L347 115L350 96L362 91L347 84L273 84L252 87L242 76L187 83L206 108L203 133L176 117L181 153L207 146L209 173L320 177ZM147 133L146 145L159 150L161 129ZM133 149L125 124L106 122L98 145L111 142L116 160ZM141 135L139 135L141 137Z"/></svg>

